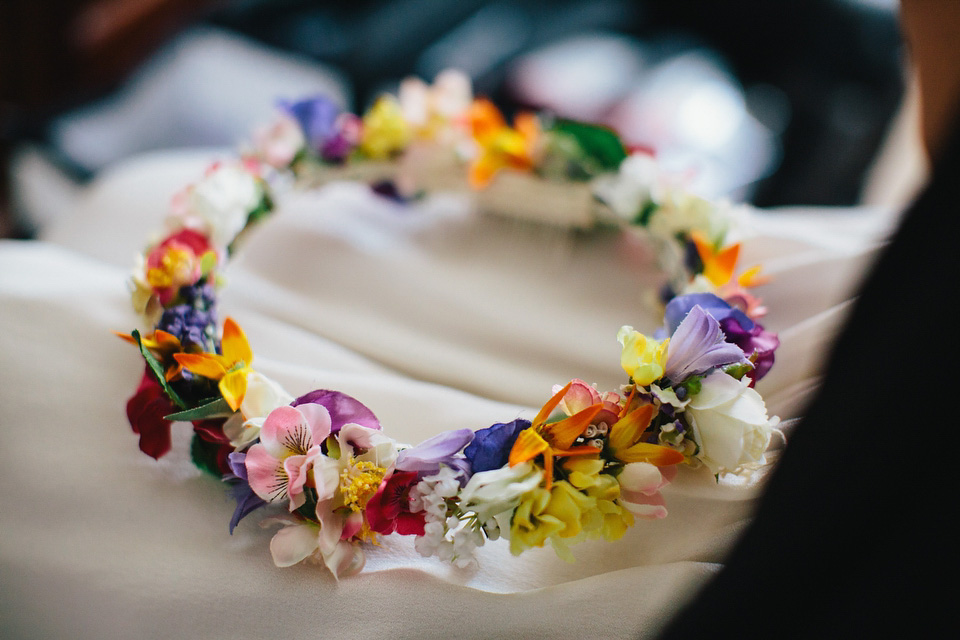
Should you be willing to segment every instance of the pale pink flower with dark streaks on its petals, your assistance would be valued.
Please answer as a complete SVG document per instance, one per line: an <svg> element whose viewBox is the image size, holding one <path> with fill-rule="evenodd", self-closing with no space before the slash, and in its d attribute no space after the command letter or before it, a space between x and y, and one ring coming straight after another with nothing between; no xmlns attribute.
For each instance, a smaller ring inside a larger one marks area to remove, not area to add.
<svg viewBox="0 0 960 640"><path fill-rule="evenodd" d="M260 442L247 451L245 465L250 488L266 500L290 501L290 511L303 506L303 488L320 479L309 472L320 444L330 435L330 413L322 405L278 407L260 428ZM336 479L333 481L337 482ZM318 491L332 488L317 487Z"/></svg>

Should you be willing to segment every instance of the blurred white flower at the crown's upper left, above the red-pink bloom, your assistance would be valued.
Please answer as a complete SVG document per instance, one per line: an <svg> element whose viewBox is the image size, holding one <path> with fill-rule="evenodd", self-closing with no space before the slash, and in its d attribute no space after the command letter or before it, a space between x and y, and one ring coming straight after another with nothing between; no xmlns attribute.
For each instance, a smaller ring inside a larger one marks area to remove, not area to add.
<svg viewBox="0 0 960 640"><path fill-rule="evenodd" d="M174 215L183 226L206 233L215 246L226 247L262 198L259 181L242 165L219 164L177 195Z"/></svg>

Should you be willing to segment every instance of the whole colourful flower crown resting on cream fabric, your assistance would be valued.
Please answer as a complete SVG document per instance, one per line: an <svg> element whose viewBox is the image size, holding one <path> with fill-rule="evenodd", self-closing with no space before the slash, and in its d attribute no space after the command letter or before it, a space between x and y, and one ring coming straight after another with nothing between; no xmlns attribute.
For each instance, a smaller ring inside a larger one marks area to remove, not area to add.
<svg viewBox="0 0 960 640"><path fill-rule="evenodd" d="M548 187L580 181L627 231L655 241L669 278L664 325L654 336L620 329L625 384L598 391L573 379L532 421L409 446L353 397L321 389L294 398L256 371L231 318L218 332L220 267L273 209L272 189L291 176L351 177L415 197L431 186L417 176L438 173L416 171L428 156L446 158L447 175L465 175L475 190L495 188L501 172ZM758 269L737 273L738 221L736 209L685 192L608 129L532 114L509 126L454 72L432 87L405 81L398 98L363 116L323 97L283 104L240 161L214 165L174 198L166 235L142 256L133 301L153 330L119 334L146 362L127 416L154 458L170 450L173 422L192 423L195 464L236 498L231 533L251 512L279 506L266 520L281 525L270 543L278 566L313 559L335 576L354 573L364 543L388 534L415 536L421 554L461 567L498 537L514 554L549 541L572 560L569 545L582 538L616 540L637 517L665 517L660 489L682 467L719 477L764 463L778 419L753 385L779 342L748 291Z"/></svg>

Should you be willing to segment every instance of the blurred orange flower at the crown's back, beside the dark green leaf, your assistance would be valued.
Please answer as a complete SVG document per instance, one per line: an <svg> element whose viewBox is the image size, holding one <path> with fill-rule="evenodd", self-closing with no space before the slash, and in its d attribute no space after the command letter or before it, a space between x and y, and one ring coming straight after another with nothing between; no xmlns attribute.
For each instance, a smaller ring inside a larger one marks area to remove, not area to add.
<svg viewBox="0 0 960 640"><path fill-rule="evenodd" d="M521 113L511 128L492 102L480 99L474 101L467 118L478 147L477 157L470 165L470 186L486 186L501 169L528 171L533 168L534 151L540 138L536 116Z"/></svg>

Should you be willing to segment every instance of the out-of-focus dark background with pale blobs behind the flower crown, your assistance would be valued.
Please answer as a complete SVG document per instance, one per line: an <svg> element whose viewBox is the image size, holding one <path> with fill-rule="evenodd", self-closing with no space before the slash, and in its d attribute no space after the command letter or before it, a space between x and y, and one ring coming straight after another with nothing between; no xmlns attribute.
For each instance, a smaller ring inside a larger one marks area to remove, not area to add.
<svg viewBox="0 0 960 640"><path fill-rule="evenodd" d="M702 195L856 205L910 108L905 53L896 0L0 0L0 237L126 158L237 145L277 99L359 111L448 67Z"/></svg>

